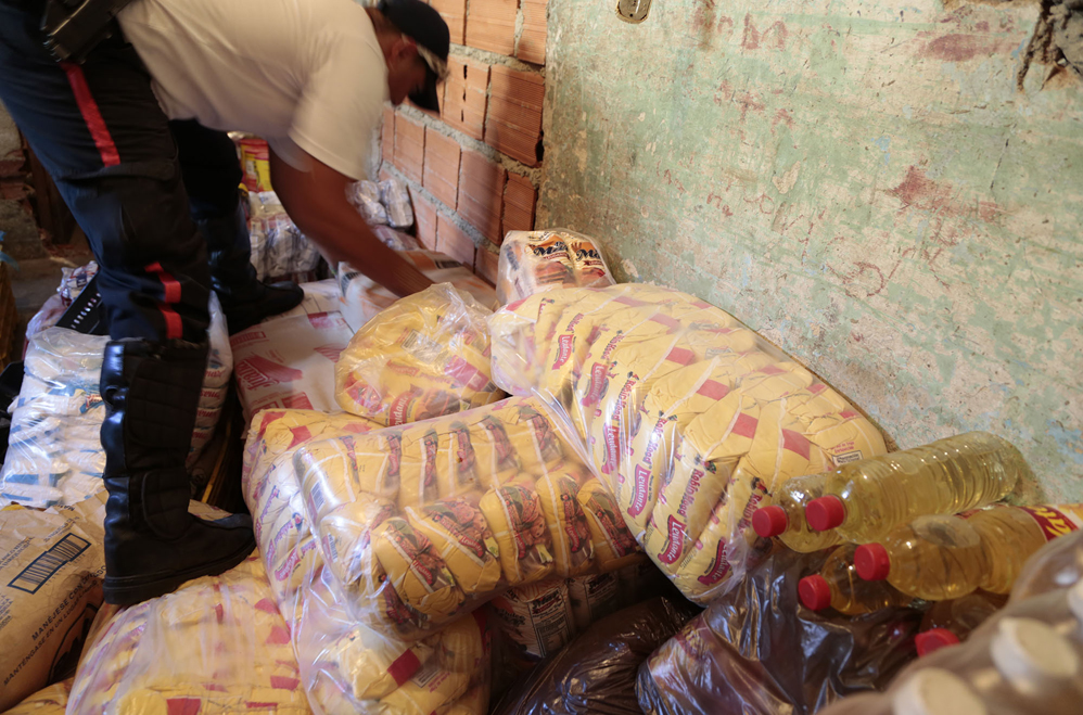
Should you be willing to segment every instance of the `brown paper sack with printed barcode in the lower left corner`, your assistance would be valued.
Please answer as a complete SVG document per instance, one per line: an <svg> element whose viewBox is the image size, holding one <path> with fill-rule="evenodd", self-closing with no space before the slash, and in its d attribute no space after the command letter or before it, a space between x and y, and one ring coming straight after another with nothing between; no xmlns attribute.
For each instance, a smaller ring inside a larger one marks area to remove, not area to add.
<svg viewBox="0 0 1083 715"><path fill-rule="evenodd" d="M0 712L75 673L102 603L104 519L104 493L74 507L0 510Z"/></svg>

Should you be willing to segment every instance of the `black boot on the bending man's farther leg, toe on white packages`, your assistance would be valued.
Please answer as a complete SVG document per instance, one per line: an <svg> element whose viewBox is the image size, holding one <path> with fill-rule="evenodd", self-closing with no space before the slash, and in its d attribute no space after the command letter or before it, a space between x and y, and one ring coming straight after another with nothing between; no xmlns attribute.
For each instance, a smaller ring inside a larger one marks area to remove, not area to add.
<svg viewBox="0 0 1083 715"><path fill-rule="evenodd" d="M230 335L285 312L304 299L305 292L296 283L267 285L256 279L249 229L240 204L231 215L202 219L196 225L207 241L211 286L226 311Z"/></svg>

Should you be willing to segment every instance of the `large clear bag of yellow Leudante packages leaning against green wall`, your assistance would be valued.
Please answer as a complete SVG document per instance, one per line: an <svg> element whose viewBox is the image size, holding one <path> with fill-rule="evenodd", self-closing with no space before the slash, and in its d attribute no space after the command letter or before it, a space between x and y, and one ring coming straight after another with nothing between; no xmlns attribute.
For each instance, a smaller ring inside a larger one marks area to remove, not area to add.
<svg viewBox="0 0 1083 715"><path fill-rule="evenodd" d="M752 512L788 478L885 451L813 373L678 291L551 290L489 328L496 384L574 426L628 528L697 602L762 556Z"/></svg>

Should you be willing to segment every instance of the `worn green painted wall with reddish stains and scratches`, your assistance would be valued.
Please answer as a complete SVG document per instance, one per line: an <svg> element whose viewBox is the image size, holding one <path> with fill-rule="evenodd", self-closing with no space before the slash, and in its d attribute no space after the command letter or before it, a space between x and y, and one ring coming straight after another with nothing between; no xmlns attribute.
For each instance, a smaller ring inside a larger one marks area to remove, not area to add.
<svg viewBox="0 0 1083 715"><path fill-rule="evenodd" d="M539 226L718 305L902 447L983 429L1083 501L1083 84L1036 3L550 0ZM893 5L893 7L889 7Z"/></svg>

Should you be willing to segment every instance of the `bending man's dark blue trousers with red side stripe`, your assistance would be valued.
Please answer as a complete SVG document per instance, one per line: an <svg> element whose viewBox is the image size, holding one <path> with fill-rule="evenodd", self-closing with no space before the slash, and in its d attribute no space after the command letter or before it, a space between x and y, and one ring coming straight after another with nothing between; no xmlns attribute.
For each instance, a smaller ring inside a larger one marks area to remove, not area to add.
<svg viewBox="0 0 1083 715"><path fill-rule="evenodd" d="M42 7L0 0L0 101L87 234L110 334L203 342L211 271L196 221L238 209L233 143L195 122L169 122L119 31L81 65L55 62L42 43Z"/></svg>

